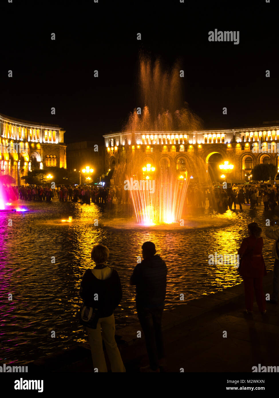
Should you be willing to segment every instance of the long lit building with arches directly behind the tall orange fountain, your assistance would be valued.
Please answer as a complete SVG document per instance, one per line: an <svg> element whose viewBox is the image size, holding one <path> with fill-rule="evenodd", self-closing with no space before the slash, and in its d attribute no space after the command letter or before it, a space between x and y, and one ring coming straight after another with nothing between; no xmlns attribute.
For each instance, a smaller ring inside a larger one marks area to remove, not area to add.
<svg viewBox="0 0 279 398"><path fill-rule="evenodd" d="M254 166L271 163L278 168L279 121L260 127L202 131L116 132L104 135L107 169L121 162L147 163L176 169L178 174L195 174L201 183L209 179L211 156L234 168L230 178L248 180ZM271 124L274 123L274 124ZM277 144L278 142L278 144ZM220 173L221 174L221 173Z"/></svg>

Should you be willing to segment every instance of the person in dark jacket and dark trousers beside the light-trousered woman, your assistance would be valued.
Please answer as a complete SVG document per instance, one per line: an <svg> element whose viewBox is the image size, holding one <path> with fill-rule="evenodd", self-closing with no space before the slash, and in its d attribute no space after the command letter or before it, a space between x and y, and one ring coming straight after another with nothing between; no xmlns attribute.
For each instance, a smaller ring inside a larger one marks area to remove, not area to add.
<svg viewBox="0 0 279 398"><path fill-rule="evenodd" d="M162 339L162 314L166 298L166 263L156 255L155 245L142 245L143 261L134 268L130 285L136 286L136 306L140 325L144 332L150 366L141 371L160 372L164 364Z"/></svg>

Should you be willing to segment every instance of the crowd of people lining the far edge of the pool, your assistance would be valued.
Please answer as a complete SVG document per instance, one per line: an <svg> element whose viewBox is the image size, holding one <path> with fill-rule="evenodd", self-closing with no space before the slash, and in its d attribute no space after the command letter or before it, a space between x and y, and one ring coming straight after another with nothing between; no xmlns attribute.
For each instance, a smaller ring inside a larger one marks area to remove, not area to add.
<svg viewBox="0 0 279 398"><path fill-rule="evenodd" d="M117 186L111 187L93 187L93 186L68 186L58 185L55 188L49 186L2 186L2 195L6 201L17 199L25 201L49 201L57 197L60 202L79 202L79 203L97 203L110 207L115 201L125 203L130 201L130 192ZM265 210L274 210L279 202L278 186L242 187L232 184L227 189L189 187L186 193L185 205L189 207L206 207L208 201L209 209L216 211L235 210L236 205L242 210L242 205L250 205L250 209L256 209L263 202Z"/></svg>

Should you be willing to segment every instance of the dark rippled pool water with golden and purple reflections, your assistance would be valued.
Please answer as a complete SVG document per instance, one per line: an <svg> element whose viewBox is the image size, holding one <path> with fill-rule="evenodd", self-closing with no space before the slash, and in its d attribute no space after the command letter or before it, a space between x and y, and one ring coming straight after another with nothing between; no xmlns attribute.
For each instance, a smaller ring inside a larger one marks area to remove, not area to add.
<svg viewBox="0 0 279 398"><path fill-rule="evenodd" d="M263 206L256 211L244 206L242 213L228 210L223 215L194 209L184 226L137 227L132 209L117 204L110 210L59 201L21 205L29 211L0 213L2 363L26 363L86 340L76 310L81 304L80 281L85 270L93 267L94 244L109 247L109 263L121 278L123 300L115 311L121 327L136 318L135 287L129 286L129 278L143 242L152 240L167 263L166 308L174 308L182 304L181 293L189 301L240 283L234 267L209 265L208 256L236 253L247 224L257 221L264 229L265 219L271 217L270 212L269 216L263 213ZM69 216L71 223L61 222ZM269 270L272 242L264 234L263 240Z"/></svg>

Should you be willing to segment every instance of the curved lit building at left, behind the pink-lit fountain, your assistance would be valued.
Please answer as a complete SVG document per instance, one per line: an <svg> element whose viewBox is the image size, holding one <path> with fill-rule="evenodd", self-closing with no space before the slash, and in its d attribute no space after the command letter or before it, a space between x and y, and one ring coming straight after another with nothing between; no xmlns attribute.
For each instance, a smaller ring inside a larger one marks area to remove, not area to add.
<svg viewBox="0 0 279 398"><path fill-rule="evenodd" d="M57 125L40 124L0 114L0 174L9 174L17 185L28 170L54 166L66 168L65 131Z"/></svg>

